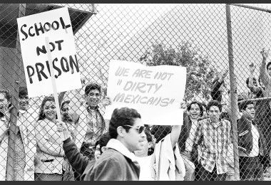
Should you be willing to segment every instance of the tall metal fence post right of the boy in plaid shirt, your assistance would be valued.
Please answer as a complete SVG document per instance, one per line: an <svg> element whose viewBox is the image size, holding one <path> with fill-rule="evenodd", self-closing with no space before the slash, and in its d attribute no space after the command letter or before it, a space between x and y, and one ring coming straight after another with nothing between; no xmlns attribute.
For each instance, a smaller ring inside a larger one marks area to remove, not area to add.
<svg viewBox="0 0 271 185"><path fill-rule="evenodd" d="M227 50L229 57L229 70L230 70L230 105L231 105L231 123L232 123L232 142L233 142L233 154L235 164L235 181L240 180L239 174L239 154L237 145L237 91L235 81L235 66L233 62L233 51L232 51L232 26L230 18L230 5L226 4L226 21L227 21Z"/></svg>

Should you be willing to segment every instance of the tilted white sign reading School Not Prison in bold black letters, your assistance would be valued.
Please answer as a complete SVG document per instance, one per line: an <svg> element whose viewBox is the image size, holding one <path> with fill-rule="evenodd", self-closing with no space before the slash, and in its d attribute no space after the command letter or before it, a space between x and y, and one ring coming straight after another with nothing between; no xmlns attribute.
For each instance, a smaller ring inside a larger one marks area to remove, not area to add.
<svg viewBox="0 0 271 185"><path fill-rule="evenodd" d="M29 97L53 93L46 36L49 40L57 91L81 88L68 8L17 18L17 23Z"/></svg>

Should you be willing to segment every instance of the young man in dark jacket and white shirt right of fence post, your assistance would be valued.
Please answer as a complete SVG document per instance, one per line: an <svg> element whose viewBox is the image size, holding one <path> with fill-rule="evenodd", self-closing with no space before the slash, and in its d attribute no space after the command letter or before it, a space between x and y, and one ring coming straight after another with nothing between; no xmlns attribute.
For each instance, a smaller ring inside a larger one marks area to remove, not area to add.
<svg viewBox="0 0 271 185"><path fill-rule="evenodd" d="M241 102L242 117L237 120L240 179L263 180L260 156L267 156L267 146L262 130L255 123L255 107L251 100Z"/></svg>

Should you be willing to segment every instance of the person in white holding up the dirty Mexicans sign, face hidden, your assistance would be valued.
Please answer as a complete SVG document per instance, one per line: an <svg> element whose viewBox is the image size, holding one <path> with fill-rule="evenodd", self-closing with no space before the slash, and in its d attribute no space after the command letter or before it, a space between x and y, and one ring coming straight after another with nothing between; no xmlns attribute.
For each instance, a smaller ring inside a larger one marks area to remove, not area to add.
<svg viewBox="0 0 271 185"><path fill-rule="evenodd" d="M184 106L185 102L181 107L184 108ZM145 129L147 137L143 142L143 149L135 151L136 159L140 164L140 181L181 181L184 179L185 164L177 144L181 125L173 125L170 129L170 134L167 129L163 129L163 127L160 129L162 139L159 139L157 144L150 131Z"/></svg>

